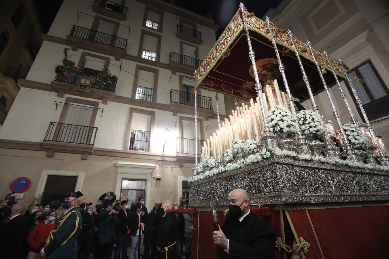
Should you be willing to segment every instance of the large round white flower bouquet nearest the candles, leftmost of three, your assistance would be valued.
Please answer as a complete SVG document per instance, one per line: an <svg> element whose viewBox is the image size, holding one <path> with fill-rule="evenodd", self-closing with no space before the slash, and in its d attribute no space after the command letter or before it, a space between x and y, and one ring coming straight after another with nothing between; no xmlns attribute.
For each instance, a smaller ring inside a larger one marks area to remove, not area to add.
<svg viewBox="0 0 389 259"><path fill-rule="evenodd" d="M297 133L296 120L284 106L275 105L268 112L266 120L274 134L294 135Z"/></svg>

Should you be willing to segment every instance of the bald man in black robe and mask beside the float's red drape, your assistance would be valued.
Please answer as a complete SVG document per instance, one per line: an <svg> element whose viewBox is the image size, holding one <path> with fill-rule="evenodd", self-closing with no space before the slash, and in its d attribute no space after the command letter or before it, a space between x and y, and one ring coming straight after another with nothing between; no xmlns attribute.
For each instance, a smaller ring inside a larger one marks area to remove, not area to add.
<svg viewBox="0 0 389 259"><path fill-rule="evenodd" d="M228 259L273 258L274 233L266 221L250 212L247 192L235 189L228 200L230 207L223 228L213 232L214 244L223 248L219 254Z"/></svg>

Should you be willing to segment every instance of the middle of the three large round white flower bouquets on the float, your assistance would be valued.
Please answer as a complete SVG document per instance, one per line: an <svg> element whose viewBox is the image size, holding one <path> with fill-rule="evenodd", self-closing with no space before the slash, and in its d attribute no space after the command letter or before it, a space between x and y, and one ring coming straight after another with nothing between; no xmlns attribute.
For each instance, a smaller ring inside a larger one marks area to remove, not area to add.
<svg viewBox="0 0 389 259"><path fill-rule="evenodd" d="M327 132L327 127L324 125L322 118L312 110L299 111L297 119L301 133L305 136L310 135L321 138Z"/></svg>

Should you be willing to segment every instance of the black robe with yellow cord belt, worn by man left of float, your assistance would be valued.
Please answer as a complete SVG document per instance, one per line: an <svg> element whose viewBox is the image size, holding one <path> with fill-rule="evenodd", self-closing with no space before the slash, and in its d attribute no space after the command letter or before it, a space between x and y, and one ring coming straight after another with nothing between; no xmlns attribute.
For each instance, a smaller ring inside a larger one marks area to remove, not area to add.
<svg viewBox="0 0 389 259"><path fill-rule="evenodd" d="M166 213L165 217L162 218L161 222L155 226L145 226L144 233L152 235L158 233L157 247L164 250L165 247L172 245L175 242L177 236L177 217L174 212ZM165 250L159 253L159 258L166 258ZM168 259L177 258L176 244L168 248Z"/></svg>

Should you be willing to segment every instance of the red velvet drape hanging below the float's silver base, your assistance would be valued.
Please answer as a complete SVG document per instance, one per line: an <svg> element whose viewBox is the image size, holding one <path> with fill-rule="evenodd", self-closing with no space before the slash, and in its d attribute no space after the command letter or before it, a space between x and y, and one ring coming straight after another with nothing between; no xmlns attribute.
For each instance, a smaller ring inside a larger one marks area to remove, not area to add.
<svg viewBox="0 0 389 259"><path fill-rule="evenodd" d="M279 210L264 207L251 211L269 222L276 238L282 238ZM226 219L223 211L218 211L217 216L223 226ZM306 259L389 258L389 205L287 210L282 211L282 219L285 236L282 243L293 247L294 236L299 242L303 237L310 243L308 253L304 254ZM217 258L212 241L212 211L197 211L193 227L192 258ZM274 249L275 259L283 259L284 254ZM291 258L291 254L287 253L286 258Z"/></svg>

